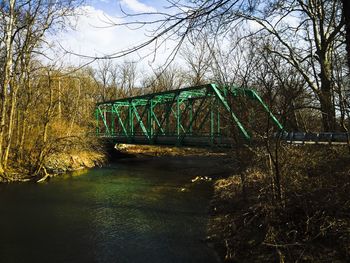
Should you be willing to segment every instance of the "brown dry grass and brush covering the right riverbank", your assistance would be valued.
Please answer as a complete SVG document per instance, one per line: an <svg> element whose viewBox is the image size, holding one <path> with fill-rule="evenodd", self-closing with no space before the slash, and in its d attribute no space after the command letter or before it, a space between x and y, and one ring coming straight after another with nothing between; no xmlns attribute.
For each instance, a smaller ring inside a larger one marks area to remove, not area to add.
<svg viewBox="0 0 350 263"><path fill-rule="evenodd" d="M225 260L349 262L346 148L283 146L282 202L273 198L265 158L255 151L240 173L215 185L210 233Z"/></svg>

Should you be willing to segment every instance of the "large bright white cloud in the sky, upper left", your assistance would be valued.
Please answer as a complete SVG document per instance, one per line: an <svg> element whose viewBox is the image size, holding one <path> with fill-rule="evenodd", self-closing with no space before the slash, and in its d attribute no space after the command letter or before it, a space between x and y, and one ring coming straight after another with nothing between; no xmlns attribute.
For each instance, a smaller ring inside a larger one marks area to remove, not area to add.
<svg viewBox="0 0 350 263"><path fill-rule="evenodd" d="M56 53L48 54L49 57L57 59L60 54L62 55L60 46L71 53L82 55L65 55L61 61L64 61L66 65L82 65L91 60L91 58L84 58L83 56L102 57L114 54L149 39L145 35L144 29L130 30L127 27L108 25L106 23L108 21L114 21L115 23L125 21L116 16L107 15L97 7L83 6L78 11L81 15L73 21L73 24L75 24L74 30L62 32L51 36L49 39L50 42L56 43L55 46L57 47ZM152 53L152 46L122 57L119 61L139 61L142 68L146 68L150 64L154 66L165 61L172 46L173 44L169 43L168 46L165 45L163 48L158 49L155 61L153 61L153 56L141 60L146 54Z"/></svg>

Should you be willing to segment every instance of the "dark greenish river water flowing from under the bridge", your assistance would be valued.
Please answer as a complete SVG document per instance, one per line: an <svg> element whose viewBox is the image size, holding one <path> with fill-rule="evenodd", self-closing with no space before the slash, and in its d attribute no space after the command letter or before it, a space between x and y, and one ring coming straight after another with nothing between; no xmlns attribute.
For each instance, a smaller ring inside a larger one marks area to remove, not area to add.
<svg viewBox="0 0 350 263"><path fill-rule="evenodd" d="M0 185L0 262L218 262L203 242L211 185L186 173L195 162L127 159Z"/></svg>

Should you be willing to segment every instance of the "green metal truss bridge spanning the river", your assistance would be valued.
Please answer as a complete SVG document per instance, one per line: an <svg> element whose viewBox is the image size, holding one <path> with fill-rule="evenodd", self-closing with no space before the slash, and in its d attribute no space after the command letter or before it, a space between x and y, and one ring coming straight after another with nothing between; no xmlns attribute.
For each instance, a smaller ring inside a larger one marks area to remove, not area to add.
<svg viewBox="0 0 350 263"><path fill-rule="evenodd" d="M257 119L283 129L256 91L215 84L96 105L97 136L126 144L229 146L266 129Z"/></svg>

